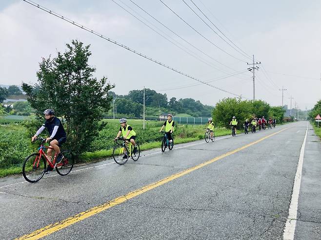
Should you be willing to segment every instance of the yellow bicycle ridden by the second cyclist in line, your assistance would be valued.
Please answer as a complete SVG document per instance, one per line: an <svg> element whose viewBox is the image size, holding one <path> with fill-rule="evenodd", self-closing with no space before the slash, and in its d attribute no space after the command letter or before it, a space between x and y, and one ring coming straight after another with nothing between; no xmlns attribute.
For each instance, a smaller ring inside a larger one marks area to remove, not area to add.
<svg viewBox="0 0 321 240"><path fill-rule="evenodd" d="M129 139L124 139L120 137L115 140L116 146L113 150L113 158L115 162L119 165L124 165L127 163L129 156L137 161L140 158L140 145L136 142L137 148L135 148Z"/></svg>

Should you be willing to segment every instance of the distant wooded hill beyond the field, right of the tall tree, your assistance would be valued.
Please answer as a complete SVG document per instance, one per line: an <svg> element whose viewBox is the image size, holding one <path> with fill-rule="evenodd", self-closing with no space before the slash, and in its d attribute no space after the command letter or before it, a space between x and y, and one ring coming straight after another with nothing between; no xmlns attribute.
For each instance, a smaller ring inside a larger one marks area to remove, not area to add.
<svg viewBox="0 0 321 240"><path fill-rule="evenodd" d="M109 94L115 99L117 113L133 114L135 117L142 116L143 90L132 90L127 95L117 95L115 92L109 92ZM210 116L214 108L213 106L203 105L193 98L177 100L176 97L172 97L168 101L166 93L161 94L152 89L145 89L145 107L154 109L154 111L149 109L149 114L159 114L161 110L173 114L187 113L194 117Z"/></svg>

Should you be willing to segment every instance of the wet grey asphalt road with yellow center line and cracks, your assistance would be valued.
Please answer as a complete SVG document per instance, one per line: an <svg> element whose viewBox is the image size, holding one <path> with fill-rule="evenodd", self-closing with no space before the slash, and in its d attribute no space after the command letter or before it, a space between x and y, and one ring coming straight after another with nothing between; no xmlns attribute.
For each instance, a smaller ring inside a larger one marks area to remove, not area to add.
<svg viewBox="0 0 321 240"><path fill-rule="evenodd" d="M283 239L306 130L294 239L320 240L321 142L307 122L54 171L36 184L2 178L0 239Z"/></svg>

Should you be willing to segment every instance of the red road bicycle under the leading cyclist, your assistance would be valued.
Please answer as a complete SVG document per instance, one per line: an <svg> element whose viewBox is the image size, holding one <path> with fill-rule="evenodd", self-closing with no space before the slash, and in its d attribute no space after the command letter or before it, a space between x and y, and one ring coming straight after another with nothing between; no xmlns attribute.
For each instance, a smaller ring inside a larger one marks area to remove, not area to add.
<svg viewBox="0 0 321 240"><path fill-rule="evenodd" d="M31 154L27 157L22 165L22 175L25 180L29 183L38 182L44 175L47 164L52 168L56 168L56 171L61 176L67 175L74 166L74 154L70 150L63 150L62 153L62 161L59 164L56 164L56 159L58 154L55 153L55 157L53 162L49 160L46 149L53 149L51 147L44 146L46 139L44 138L36 138L36 140L41 141L41 145L38 148L38 152Z"/></svg>

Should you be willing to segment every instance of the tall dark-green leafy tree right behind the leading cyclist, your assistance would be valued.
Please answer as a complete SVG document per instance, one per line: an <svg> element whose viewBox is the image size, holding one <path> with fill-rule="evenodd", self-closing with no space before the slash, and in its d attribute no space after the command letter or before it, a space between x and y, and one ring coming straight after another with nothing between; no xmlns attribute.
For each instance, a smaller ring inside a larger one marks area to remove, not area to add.
<svg viewBox="0 0 321 240"><path fill-rule="evenodd" d="M38 85L22 84L31 107L38 116L45 109L56 111L65 125L67 147L77 155L88 151L98 135L102 113L110 109L114 87L93 77L96 69L88 65L89 45L78 40L66 44L67 50L54 59L42 59L37 72Z"/></svg>

